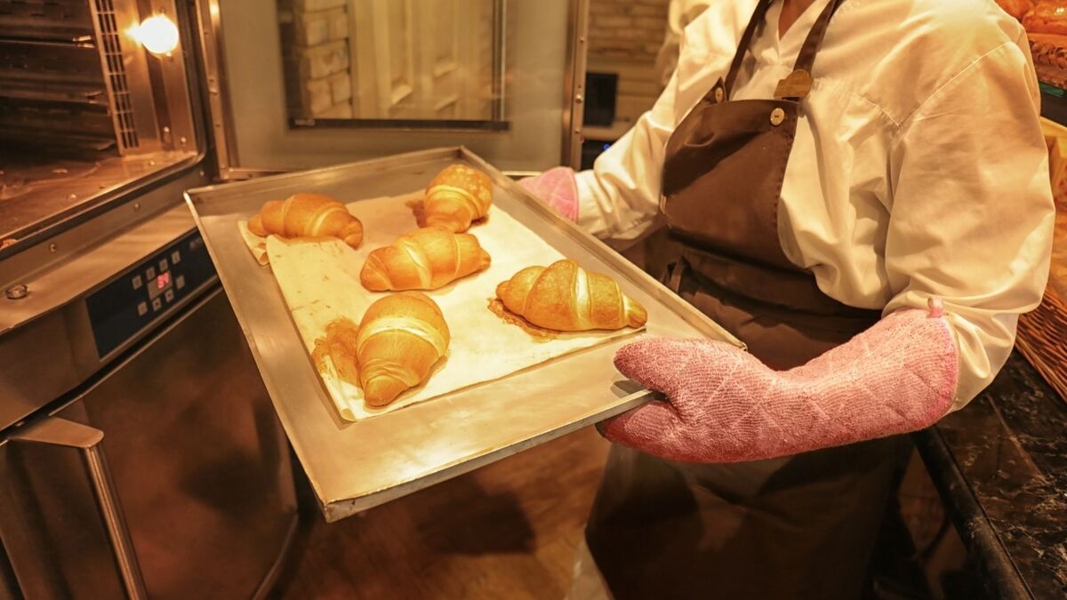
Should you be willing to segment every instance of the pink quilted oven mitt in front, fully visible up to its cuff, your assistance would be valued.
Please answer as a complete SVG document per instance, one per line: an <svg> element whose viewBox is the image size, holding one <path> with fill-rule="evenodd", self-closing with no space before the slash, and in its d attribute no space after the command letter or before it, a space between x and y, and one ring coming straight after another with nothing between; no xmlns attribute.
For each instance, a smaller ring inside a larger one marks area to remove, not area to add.
<svg viewBox="0 0 1067 600"><path fill-rule="evenodd" d="M940 301L898 311L823 356L776 372L722 342L622 347L626 377L667 395L601 423L610 441L691 462L739 462L914 431L956 393L957 350Z"/></svg>

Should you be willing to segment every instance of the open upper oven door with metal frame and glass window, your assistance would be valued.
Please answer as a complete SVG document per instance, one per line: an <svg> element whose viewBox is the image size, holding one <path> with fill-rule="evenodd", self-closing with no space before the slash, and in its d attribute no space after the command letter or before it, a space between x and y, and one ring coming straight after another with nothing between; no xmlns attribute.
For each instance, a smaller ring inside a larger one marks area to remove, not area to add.
<svg viewBox="0 0 1067 600"><path fill-rule="evenodd" d="M219 175L465 145L580 158L588 0L198 0Z"/></svg>

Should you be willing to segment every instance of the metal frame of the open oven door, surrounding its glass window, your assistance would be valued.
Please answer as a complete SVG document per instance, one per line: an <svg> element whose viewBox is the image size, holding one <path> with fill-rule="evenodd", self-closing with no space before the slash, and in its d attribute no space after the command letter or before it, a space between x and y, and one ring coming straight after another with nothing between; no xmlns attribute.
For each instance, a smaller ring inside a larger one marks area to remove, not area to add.
<svg viewBox="0 0 1067 600"><path fill-rule="evenodd" d="M503 170L577 167L588 0L512 1L519 62L503 132L290 129L275 1L200 0L209 128L220 176L246 178L401 152L463 144Z"/></svg>

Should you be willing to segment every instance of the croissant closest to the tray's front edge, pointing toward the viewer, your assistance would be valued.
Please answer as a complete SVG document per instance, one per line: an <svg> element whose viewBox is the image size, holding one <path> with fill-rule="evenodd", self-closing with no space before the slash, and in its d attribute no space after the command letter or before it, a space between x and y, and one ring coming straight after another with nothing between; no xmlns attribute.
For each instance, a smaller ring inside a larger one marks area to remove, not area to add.
<svg viewBox="0 0 1067 600"><path fill-rule="evenodd" d="M355 351L367 406L383 407L426 381L448 350L448 325L429 296L386 296L363 315Z"/></svg>

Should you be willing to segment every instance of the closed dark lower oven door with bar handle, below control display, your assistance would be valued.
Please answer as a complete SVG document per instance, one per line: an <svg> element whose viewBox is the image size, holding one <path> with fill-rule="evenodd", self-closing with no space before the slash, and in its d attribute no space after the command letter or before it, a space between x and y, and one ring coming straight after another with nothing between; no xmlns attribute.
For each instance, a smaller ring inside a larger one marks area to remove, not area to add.
<svg viewBox="0 0 1067 600"><path fill-rule="evenodd" d="M297 524L284 436L216 287L0 440L0 598L264 597Z"/></svg>

